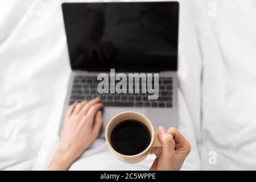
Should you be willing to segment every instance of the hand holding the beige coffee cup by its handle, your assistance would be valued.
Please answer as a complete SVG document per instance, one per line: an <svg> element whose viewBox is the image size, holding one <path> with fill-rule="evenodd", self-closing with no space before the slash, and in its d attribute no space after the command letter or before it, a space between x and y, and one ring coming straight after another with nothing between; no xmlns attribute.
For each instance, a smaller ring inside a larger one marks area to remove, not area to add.
<svg viewBox="0 0 256 182"><path fill-rule="evenodd" d="M168 131L163 127L158 127L158 139L162 147L155 150L156 159L150 170L152 171L177 171L180 170L185 158L191 151L191 146L185 137L174 127ZM174 142L175 141L175 147Z"/></svg>

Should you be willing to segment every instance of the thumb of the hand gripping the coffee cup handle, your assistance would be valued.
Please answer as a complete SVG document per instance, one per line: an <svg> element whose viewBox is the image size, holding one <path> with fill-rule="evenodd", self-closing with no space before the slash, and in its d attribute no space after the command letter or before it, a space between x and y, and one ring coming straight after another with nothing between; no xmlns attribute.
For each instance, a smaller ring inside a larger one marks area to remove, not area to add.
<svg viewBox="0 0 256 182"><path fill-rule="evenodd" d="M168 131L163 126L158 127L158 138L163 146L162 155L167 158L170 158L172 155L174 155L175 148L172 135L168 133Z"/></svg>

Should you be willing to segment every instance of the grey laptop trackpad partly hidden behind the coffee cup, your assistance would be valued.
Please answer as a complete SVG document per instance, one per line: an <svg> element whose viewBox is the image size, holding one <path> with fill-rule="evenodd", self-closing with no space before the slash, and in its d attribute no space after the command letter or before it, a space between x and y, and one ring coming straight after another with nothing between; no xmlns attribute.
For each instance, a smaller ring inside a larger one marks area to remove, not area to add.
<svg viewBox="0 0 256 182"><path fill-rule="evenodd" d="M137 111L141 114L146 114L146 109L143 108L135 108L135 107L104 107L103 114L103 126L101 128L100 138L105 138L105 130L108 125L110 119L112 119L115 115L123 112L123 111Z"/></svg>

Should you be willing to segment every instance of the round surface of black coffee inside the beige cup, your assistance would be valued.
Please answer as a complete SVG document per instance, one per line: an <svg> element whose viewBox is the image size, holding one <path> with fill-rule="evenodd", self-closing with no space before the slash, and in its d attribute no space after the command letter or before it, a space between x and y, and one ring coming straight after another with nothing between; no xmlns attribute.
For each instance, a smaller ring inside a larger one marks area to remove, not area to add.
<svg viewBox="0 0 256 182"><path fill-rule="evenodd" d="M150 144L150 132L139 121L125 120L114 127L110 139L119 154L136 155Z"/></svg>

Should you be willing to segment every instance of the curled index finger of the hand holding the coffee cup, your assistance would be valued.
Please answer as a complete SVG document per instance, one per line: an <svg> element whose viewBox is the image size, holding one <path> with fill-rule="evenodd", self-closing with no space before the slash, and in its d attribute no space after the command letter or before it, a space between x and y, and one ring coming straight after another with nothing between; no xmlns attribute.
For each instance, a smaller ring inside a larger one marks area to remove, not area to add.
<svg viewBox="0 0 256 182"><path fill-rule="evenodd" d="M188 142L188 140L174 127L171 127L168 129L168 133L172 135L172 138L174 138L176 143L176 151L182 151L186 154L189 154L191 151L191 146Z"/></svg>

